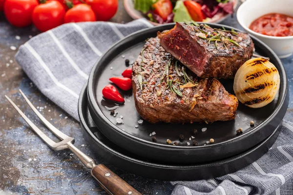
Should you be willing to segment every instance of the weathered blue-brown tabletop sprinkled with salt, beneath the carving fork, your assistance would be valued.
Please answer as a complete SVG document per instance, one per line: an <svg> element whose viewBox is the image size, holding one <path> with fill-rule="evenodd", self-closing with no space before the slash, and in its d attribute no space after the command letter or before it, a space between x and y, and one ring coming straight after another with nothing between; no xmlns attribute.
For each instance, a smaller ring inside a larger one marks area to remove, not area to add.
<svg viewBox="0 0 293 195"><path fill-rule="evenodd" d="M234 16L235 17L235 16ZM128 22L131 18L119 0L119 10L111 20ZM240 28L236 18L228 18L223 24ZM240 28L241 29L241 28ZM167 195L172 186L167 181L150 180L126 173L110 164L90 150L82 136L80 124L44 97L16 63L13 50L31 36L39 34L33 26L15 28L0 13L0 195L2 193L24 195L97 195L105 194L84 165L70 151L52 151L37 137L25 121L10 106L4 95L12 97L20 108L32 114L18 93L20 88L42 109L42 114L65 134L75 137L75 145L97 162L104 163L130 185L146 195ZM11 47L12 46L12 47ZM14 47L13 47L14 46ZM282 59L290 89L289 108L285 119L293 118L293 57ZM30 117L41 130L50 135L37 117ZM50 136L53 137L53 136ZM54 140L57 141L56 137Z"/></svg>

